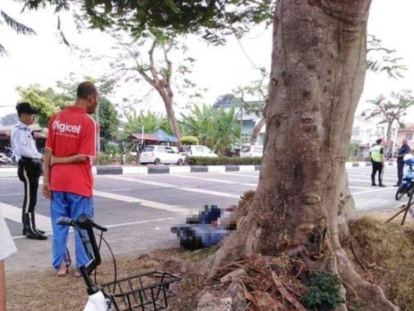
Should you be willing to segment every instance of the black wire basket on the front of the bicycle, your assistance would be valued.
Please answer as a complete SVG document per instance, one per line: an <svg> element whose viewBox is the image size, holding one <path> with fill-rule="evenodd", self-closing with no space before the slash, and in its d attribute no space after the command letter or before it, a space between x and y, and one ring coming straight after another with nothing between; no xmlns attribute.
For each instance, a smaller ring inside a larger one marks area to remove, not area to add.
<svg viewBox="0 0 414 311"><path fill-rule="evenodd" d="M169 272L152 271L104 283L101 288L116 311L157 311L166 309L168 299L177 295L170 285L180 280L181 276Z"/></svg>

